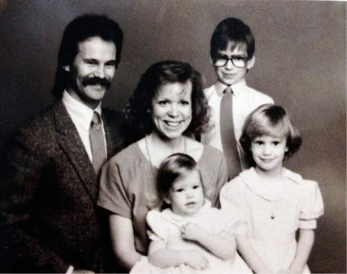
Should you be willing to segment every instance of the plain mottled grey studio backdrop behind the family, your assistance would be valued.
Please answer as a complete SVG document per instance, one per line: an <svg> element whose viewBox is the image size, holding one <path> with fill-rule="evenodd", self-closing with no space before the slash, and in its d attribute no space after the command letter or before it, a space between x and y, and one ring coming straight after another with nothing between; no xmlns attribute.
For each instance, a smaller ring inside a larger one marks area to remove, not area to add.
<svg viewBox="0 0 347 274"><path fill-rule="evenodd" d="M255 34L251 87L285 106L303 146L285 165L319 182L325 214L310 257L314 273L346 273L346 3L341 1L0 0L0 145L46 108L62 31L99 12L124 30L124 51L105 99L121 110L153 62L184 60L214 83L210 36L226 17ZM1 258L0 258L1 259Z"/></svg>

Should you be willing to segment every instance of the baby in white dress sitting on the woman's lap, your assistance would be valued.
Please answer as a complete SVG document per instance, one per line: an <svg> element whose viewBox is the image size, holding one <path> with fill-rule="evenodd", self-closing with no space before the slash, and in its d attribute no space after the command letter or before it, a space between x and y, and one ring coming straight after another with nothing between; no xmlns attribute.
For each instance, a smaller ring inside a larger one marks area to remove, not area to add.
<svg viewBox="0 0 347 274"><path fill-rule="evenodd" d="M149 255L130 273L251 273L236 252L239 219L204 199L195 160L183 153L170 155L157 179L163 210L148 212Z"/></svg>

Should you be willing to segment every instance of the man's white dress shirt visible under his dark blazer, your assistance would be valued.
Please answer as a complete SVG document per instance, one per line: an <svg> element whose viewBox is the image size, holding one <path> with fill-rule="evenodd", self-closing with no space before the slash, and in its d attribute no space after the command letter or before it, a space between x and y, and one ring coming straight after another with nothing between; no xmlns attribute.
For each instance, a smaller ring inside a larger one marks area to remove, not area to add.
<svg viewBox="0 0 347 274"><path fill-rule="evenodd" d="M86 105L83 105L83 103L74 99L66 90L62 94L62 103L65 105L65 108L67 109L67 113L69 113L69 116L72 122L76 126L78 135L81 137L83 146L85 147L85 151L87 151L90 162L93 162L92 148L90 146L90 136L89 136L90 122L92 121L94 111L98 112L101 117L101 103L99 103L99 105L94 110L92 110L91 108L88 108ZM101 119L101 125L103 129L104 142L106 144L105 129L103 128L102 119ZM105 152L107 155L106 150L107 148L105 148Z"/></svg>

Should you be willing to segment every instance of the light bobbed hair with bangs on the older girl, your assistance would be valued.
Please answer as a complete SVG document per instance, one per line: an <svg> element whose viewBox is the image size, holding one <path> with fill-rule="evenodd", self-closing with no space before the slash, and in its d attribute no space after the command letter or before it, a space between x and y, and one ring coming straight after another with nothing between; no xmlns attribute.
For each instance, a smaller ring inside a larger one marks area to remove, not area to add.
<svg viewBox="0 0 347 274"><path fill-rule="evenodd" d="M288 151L285 153L285 159L296 153L302 142L298 129L289 119L285 109L280 105L260 105L260 107L253 110L246 118L239 141L244 151L246 151L247 160L252 165L255 162L252 157L251 142L256 137L262 135L287 137Z"/></svg>

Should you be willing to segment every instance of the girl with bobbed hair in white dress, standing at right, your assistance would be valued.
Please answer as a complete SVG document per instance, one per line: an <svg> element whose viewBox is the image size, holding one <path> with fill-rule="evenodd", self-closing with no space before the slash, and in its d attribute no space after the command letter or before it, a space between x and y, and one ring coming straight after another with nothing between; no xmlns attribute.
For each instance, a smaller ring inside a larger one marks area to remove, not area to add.
<svg viewBox="0 0 347 274"><path fill-rule="evenodd" d="M282 166L301 145L298 130L282 107L261 105L246 119L240 142L253 167L220 193L222 209L236 205L246 219L239 251L255 273L310 273L306 262L323 200L316 182Z"/></svg>

